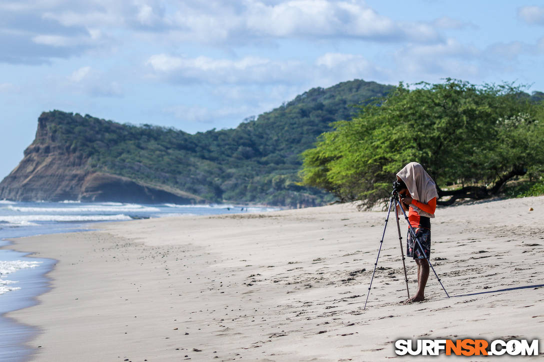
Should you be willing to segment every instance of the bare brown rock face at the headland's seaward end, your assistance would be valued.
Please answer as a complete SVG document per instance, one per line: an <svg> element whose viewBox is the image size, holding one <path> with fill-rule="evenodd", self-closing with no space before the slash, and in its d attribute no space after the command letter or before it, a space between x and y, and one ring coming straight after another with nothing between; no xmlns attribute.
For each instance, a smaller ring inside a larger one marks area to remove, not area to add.
<svg viewBox="0 0 544 362"><path fill-rule="evenodd" d="M197 203L204 199L167 186L136 182L94 170L90 157L61 142L52 132L51 113L43 113L24 158L0 182L0 199L14 201L118 201Z"/></svg>

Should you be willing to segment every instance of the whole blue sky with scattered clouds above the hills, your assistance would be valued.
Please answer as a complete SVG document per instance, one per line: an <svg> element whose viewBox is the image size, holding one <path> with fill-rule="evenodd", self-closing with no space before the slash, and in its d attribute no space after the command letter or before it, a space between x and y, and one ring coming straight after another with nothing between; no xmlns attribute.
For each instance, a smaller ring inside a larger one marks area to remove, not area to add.
<svg viewBox="0 0 544 362"><path fill-rule="evenodd" d="M195 133L355 78L544 91L538 4L0 0L0 178L53 109Z"/></svg>

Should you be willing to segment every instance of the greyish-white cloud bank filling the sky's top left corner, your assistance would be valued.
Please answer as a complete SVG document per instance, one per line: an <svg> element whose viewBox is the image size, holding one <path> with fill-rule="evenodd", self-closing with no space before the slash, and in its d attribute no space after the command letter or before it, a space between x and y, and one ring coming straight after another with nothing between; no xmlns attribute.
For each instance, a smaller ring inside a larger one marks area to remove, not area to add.
<svg viewBox="0 0 544 362"><path fill-rule="evenodd" d="M19 0L2 2L0 61L43 64L108 51L140 32L166 29L162 0ZM163 35L164 36L164 35Z"/></svg>

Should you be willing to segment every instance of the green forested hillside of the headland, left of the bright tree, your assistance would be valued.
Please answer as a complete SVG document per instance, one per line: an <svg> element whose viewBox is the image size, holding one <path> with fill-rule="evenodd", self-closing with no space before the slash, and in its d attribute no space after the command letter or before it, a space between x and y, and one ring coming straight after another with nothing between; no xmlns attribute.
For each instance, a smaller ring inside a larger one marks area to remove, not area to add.
<svg viewBox="0 0 544 362"><path fill-rule="evenodd" d="M313 147L319 134L331 129L331 122L355 115L358 108L354 105L366 104L391 89L363 80L315 88L237 128L194 135L55 110L40 116L42 136L36 135L26 155L42 154L47 147L51 150L45 154L48 158L55 152L77 155L81 164L78 167L86 174L121 176L159 189L182 191L207 202L319 205L333 196L298 184L300 154ZM38 164L39 160L33 160L33 168ZM21 167L16 170L21 173L18 179L23 179ZM78 177L75 182L83 183L83 179ZM0 185L0 191L4 190L0 198L18 195L24 199L24 190L14 192L13 182L7 185L10 180L15 178L7 177ZM73 190L79 187L72 186Z"/></svg>

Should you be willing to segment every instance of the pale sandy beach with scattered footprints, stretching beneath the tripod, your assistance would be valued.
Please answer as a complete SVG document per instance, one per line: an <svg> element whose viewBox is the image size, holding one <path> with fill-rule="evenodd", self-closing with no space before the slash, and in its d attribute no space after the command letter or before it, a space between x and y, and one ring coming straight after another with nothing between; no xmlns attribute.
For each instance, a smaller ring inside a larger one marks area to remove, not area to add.
<svg viewBox="0 0 544 362"><path fill-rule="evenodd" d="M421 360L394 341L537 339L544 287L498 290L544 283L543 212L544 197L439 208L431 261L451 297L431 271L411 305L391 219L366 310L386 213L352 204L21 238L11 247L58 263L52 290L9 317L39 329L35 361Z"/></svg>

